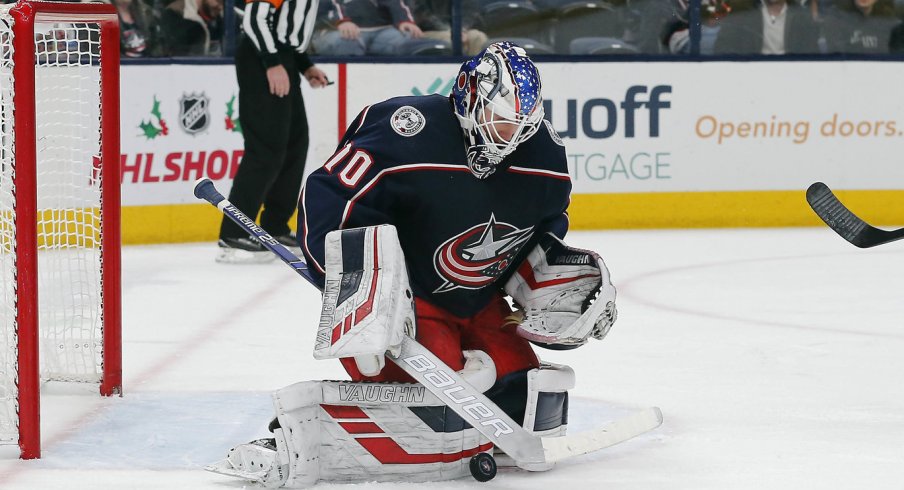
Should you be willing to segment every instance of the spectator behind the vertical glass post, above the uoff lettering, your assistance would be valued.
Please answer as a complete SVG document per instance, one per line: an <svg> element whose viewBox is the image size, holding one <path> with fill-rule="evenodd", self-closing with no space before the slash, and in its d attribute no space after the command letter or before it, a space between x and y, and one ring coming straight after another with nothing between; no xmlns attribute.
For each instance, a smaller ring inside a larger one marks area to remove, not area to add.
<svg viewBox="0 0 904 490"><path fill-rule="evenodd" d="M688 0L677 0L674 20L663 29L662 43L672 54L690 54ZM700 54L713 54L722 26L720 20L731 12L725 0L702 0L700 5Z"/></svg>

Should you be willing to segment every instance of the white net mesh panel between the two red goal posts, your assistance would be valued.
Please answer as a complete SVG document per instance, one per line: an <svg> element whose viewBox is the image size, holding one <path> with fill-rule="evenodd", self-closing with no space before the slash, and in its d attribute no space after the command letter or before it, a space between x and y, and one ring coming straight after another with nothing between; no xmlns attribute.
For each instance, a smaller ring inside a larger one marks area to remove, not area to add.
<svg viewBox="0 0 904 490"><path fill-rule="evenodd" d="M37 26L41 377L99 381L100 59L96 24Z"/></svg>

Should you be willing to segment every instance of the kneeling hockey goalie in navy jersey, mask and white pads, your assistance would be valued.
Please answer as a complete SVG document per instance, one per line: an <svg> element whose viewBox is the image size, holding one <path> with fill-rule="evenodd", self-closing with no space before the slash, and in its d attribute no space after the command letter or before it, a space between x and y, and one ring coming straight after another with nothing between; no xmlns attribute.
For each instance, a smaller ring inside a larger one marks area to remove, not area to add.
<svg viewBox="0 0 904 490"><path fill-rule="evenodd" d="M616 319L602 258L562 240L570 191L539 74L511 43L465 62L448 98L361 111L298 223L323 292L314 356L351 380L279 390L272 434L209 469L268 487L485 480L629 437L568 439L574 373L533 349L580 347Z"/></svg>

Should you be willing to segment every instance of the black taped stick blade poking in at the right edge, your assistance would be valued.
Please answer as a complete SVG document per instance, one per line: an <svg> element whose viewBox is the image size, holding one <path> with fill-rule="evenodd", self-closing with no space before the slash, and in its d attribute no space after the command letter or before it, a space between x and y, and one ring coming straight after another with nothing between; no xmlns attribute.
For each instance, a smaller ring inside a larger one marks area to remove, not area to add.
<svg viewBox="0 0 904 490"><path fill-rule="evenodd" d="M880 230L858 218L822 182L816 182L807 189L807 203L829 228L857 247L875 247L904 238L904 228Z"/></svg>

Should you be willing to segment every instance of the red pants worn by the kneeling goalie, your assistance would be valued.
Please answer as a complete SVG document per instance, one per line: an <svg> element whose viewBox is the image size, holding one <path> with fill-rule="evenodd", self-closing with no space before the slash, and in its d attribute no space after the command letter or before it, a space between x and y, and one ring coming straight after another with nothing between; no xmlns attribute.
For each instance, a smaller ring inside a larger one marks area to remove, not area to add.
<svg viewBox="0 0 904 490"><path fill-rule="evenodd" d="M415 338L456 371L464 368L464 350L486 352L496 365L497 380L511 373L540 366L530 343L515 333L514 324L506 325L506 317L512 314L512 310L502 296L496 296L489 305L470 318L452 315L422 298L415 298L415 304ZM354 381L414 382L392 362L387 362L379 375L366 377L358 371L353 359L341 361Z"/></svg>

